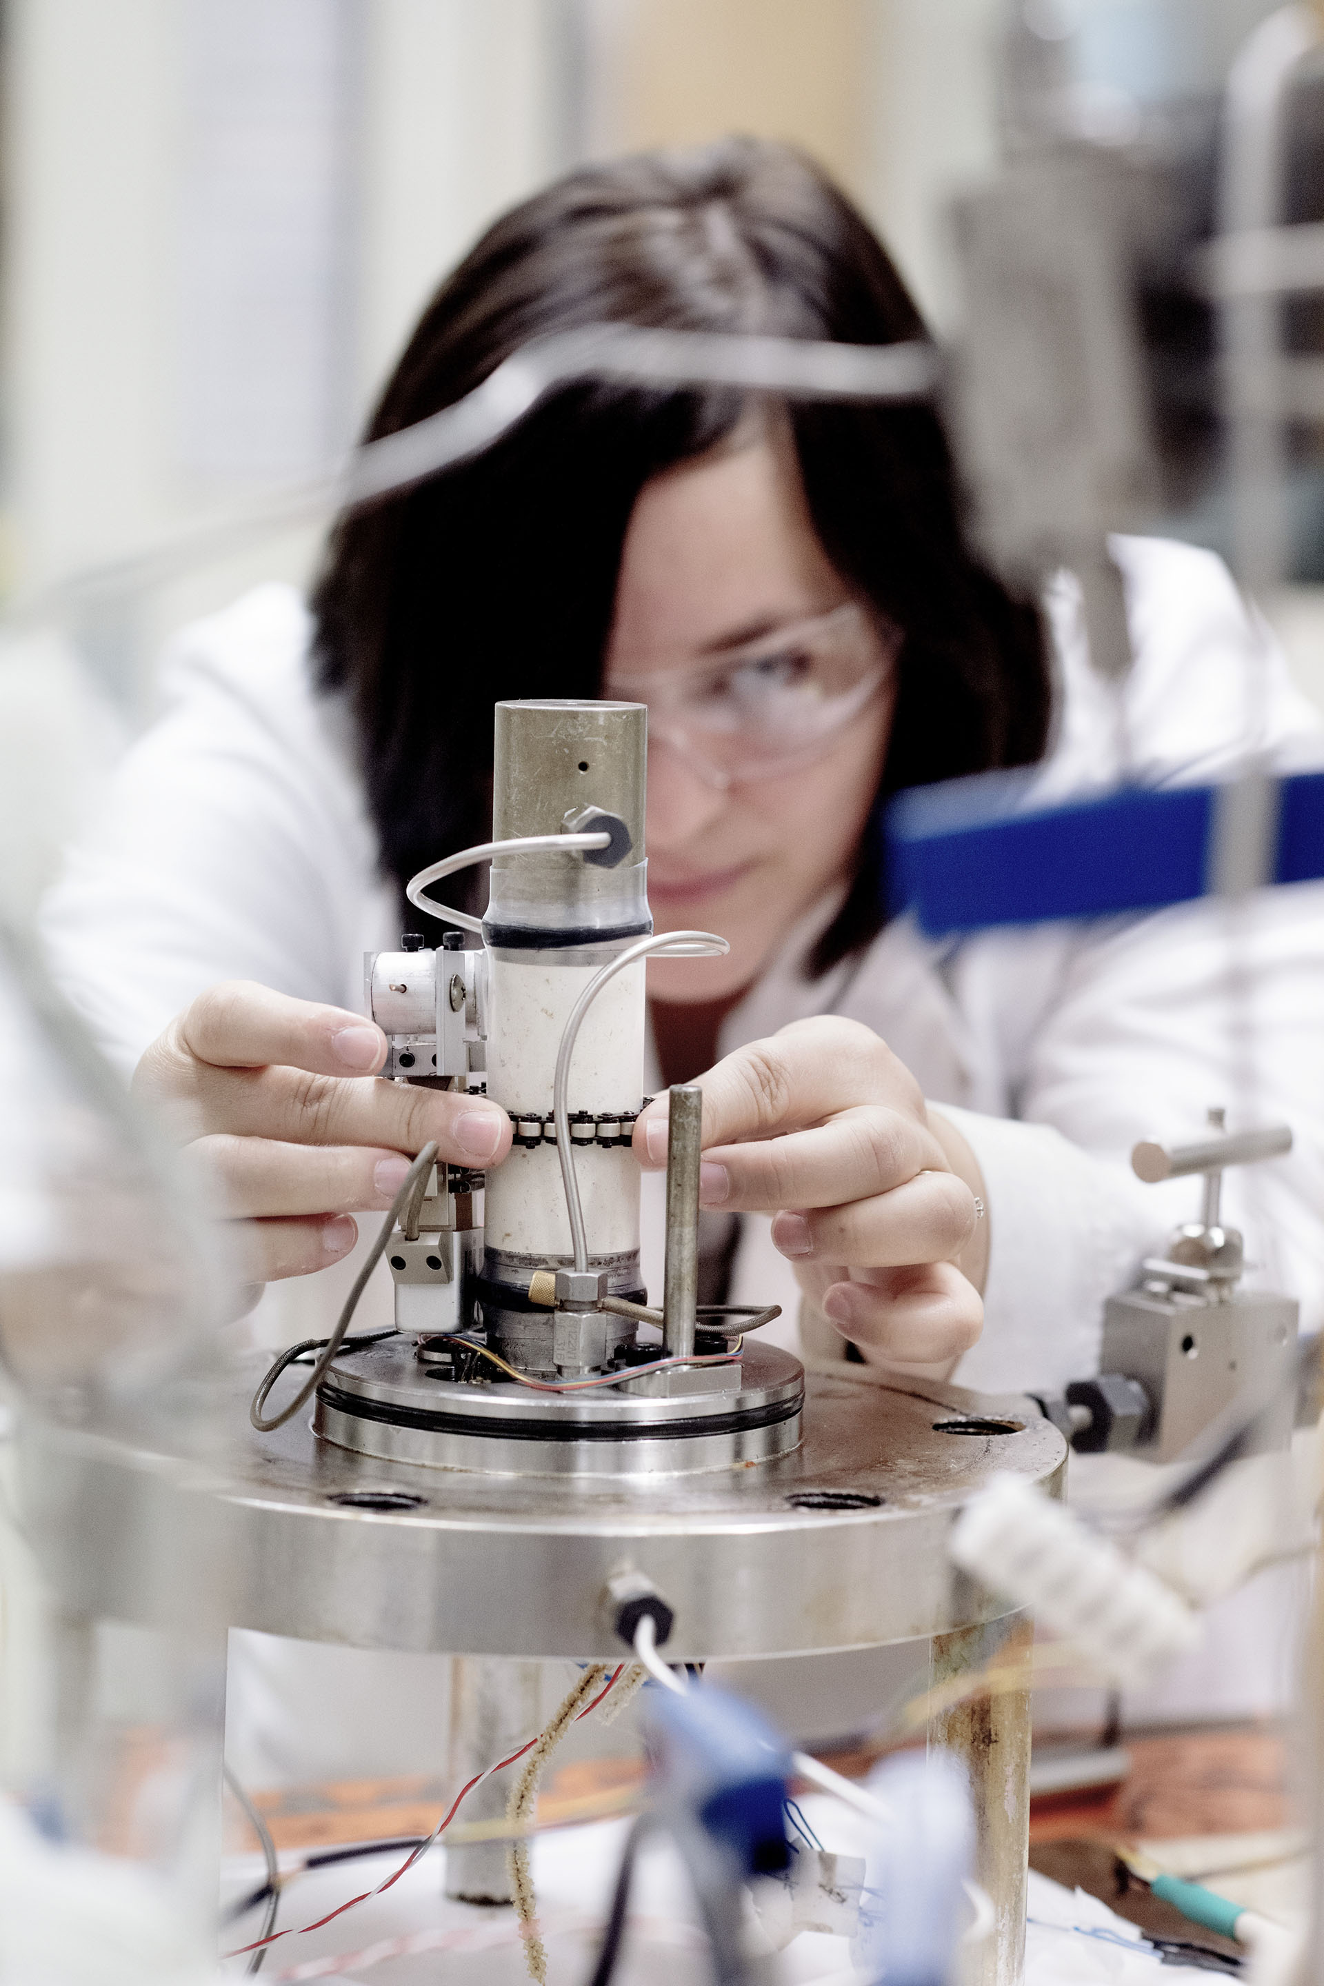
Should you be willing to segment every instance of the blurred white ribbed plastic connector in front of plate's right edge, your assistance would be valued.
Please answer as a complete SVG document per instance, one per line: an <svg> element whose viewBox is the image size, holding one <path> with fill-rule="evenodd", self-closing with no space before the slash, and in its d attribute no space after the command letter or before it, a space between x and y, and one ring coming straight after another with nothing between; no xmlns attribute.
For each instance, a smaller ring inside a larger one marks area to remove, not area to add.
<svg viewBox="0 0 1324 1986"><path fill-rule="evenodd" d="M1161 1579L1020 1476L994 1476L965 1505L949 1549L1124 1688L1151 1682L1201 1638L1197 1615Z"/></svg>

